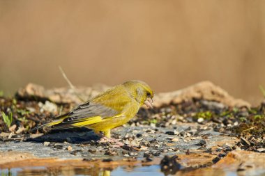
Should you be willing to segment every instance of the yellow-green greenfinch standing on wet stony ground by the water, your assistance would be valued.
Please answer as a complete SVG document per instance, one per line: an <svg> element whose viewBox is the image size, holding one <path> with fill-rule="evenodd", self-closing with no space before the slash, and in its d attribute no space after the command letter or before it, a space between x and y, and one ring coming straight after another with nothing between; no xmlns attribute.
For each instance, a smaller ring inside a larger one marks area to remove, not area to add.
<svg viewBox="0 0 265 176"><path fill-rule="evenodd" d="M128 122L143 104L153 108L152 98L153 90L144 81L126 81L33 130L43 127L53 129L87 127L93 129L96 134L103 132L105 137L111 138L110 129Z"/></svg>

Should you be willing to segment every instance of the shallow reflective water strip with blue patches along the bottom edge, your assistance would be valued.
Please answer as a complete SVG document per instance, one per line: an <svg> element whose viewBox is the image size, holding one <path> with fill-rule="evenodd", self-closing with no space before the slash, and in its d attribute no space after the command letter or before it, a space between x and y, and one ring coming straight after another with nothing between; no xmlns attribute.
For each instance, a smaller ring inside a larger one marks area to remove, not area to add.
<svg viewBox="0 0 265 176"><path fill-rule="evenodd" d="M22 175L31 175L31 176L46 176L46 175L93 175L93 176L163 176L163 175L222 175L222 176L236 176L236 175L265 175L265 170L227 170L220 168L199 168L199 169L189 169L184 168L176 173L168 174L162 173L159 165L152 166L118 166L114 169L112 168L83 168L83 167L73 167L73 166L61 166L61 167L24 167L24 168L10 168L10 169L1 169L1 176L22 176Z"/></svg>

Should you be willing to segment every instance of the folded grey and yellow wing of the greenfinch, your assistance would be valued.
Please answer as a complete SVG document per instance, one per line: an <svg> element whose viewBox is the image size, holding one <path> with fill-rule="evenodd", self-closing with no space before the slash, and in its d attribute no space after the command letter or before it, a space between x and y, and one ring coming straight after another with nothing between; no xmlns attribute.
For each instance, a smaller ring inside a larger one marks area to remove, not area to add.
<svg viewBox="0 0 265 176"><path fill-rule="evenodd" d="M91 101L77 106L73 111L63 116L63 119L59 118L61 122L52 125L52 128L82 127L124 116L132 99L126 90L122 88L118 90L117 88L108 90L107 93L98 95Z"/></svg>

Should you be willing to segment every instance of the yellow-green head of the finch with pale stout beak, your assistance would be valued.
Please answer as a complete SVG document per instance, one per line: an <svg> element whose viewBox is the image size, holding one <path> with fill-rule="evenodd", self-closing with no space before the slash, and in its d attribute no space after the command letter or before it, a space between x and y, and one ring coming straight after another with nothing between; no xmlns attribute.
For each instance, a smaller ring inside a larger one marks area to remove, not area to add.
<svg viewBox="0 0 265 176"><path fill-rule="evenodd" d="M149 108L153 108L153 90L144 81L133 80L123 83L130 91L131 96L142 106L145 104Z"/></svg>

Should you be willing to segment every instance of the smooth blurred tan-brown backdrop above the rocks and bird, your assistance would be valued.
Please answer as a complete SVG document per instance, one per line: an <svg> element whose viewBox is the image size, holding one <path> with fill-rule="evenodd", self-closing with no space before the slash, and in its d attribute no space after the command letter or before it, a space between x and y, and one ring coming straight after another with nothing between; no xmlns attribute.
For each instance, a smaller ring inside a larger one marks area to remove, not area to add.
<svg viewBox="0 0 265 176"><path fill-rule="evenodd" d="M156 92L210 80L257 104L265 86L265 1L0 1L0 90L29 82Z"/></svg>

